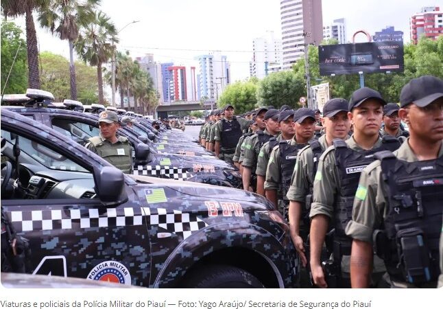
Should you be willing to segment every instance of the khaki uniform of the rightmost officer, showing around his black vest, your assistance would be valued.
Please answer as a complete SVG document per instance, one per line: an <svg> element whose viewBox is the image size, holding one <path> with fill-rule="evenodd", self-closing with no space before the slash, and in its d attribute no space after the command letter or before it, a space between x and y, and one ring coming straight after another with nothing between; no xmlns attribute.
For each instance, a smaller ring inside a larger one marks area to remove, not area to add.
<svg viewBox="0 0 443 309"><path fill-rule="evenodd" d="M394 151L394 155L403 161L418 161L407 141ZM443 157L443 144L438 157ZM381 161L372 162L361 172L359 190L357 191L359 192L355 195L352 220L346 226L346 234L353 239L372 244L374 230L383 229L384 219L391 209L387 184L382 179ZM441 248L442 240L440 239ZM441 256L440 264L442 264ZM414 287L406 282L392 282L392 284L400 287ZM435 282L430 283L429 287L435 287Z"/></svg>

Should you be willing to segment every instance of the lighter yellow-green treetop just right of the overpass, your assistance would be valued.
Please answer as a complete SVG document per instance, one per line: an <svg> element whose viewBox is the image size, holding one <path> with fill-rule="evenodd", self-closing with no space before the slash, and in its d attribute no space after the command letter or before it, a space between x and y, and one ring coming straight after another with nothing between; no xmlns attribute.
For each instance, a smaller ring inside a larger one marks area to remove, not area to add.
<svg viewBox="0 0 443 309"><path fill-rule="evenodd" d="M235 113L241 114L255 108L257 104L256 98L257 86L254 82L235 82L229 84L221 93L217 102L219 108L226 104L231 104L235 108Z"/></svg>

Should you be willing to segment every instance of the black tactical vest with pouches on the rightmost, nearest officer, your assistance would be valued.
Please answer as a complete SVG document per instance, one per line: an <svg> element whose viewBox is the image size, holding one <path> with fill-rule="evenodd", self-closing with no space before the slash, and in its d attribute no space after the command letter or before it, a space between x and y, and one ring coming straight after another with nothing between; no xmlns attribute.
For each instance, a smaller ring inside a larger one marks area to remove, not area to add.
<svg viewBox="0 0 443 309"><path fill-rule="evenodd" d="M440 273L443 157L407 162L389 151L375 157L381 161L383 181L389 188L383 234L374 232L374 246L385 250L376 252L382 253L392 279L417 286L436 282Z"/></svg>

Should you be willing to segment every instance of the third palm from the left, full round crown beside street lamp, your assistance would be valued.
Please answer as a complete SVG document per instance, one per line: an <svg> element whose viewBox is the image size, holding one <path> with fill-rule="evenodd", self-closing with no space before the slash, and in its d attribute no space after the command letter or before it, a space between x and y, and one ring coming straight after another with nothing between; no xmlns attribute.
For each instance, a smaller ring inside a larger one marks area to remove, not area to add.
<svg viewBox="0 0 443 309"><path fill-rule="evenodd" d="M118 43L117 29L114 23L104 12L95 13L93 23L85 25L75 41L75 51L84 62L97 66L97 82L99 86L99 103L104 103L103 97L103 72L101 65L108 62L114 51L115 43Z"/></svg>

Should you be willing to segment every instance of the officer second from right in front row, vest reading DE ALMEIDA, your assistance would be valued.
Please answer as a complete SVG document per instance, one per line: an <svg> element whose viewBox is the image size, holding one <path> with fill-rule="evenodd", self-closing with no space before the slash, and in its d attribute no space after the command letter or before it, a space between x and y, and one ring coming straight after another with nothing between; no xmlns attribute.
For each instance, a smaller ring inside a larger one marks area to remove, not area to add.
<svg viewBox="0 0 443 309"><path fill-rule="evenodd" d="M349 287L349 258L351 240L344 233L351 218L352 203L359 174L364 166L371 163L375 152L385 149L395 150L400 143L397 139L382 139L379 135L385 100L378 91L361 88L352 93L348 117L354 124L353 135L343 141L333 140L326 149L314 178L311 217L310 249L311 271L314 283L320 287ZM325 261L328 284L320 264L320 253L328 230L329 222L334 224L333 260ZM375 261L374 272L382 275L383 261ZM331 271L331 273L329 273Z"/></svg>

